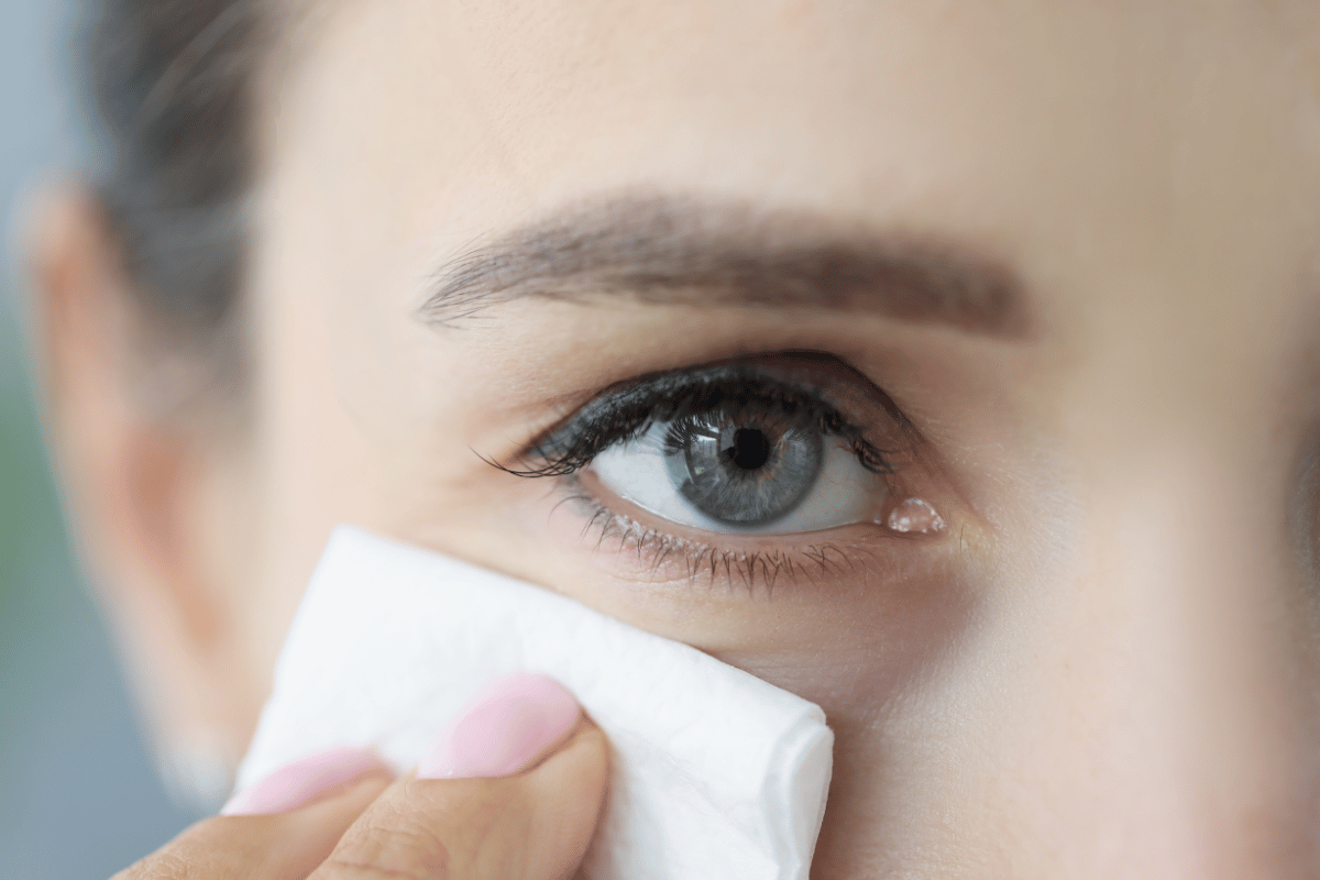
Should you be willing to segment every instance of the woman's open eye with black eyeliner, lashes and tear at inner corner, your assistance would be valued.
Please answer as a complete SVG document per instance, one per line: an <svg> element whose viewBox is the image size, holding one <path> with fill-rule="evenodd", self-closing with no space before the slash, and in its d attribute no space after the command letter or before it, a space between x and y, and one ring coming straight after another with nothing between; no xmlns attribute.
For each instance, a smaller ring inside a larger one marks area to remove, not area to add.
<svg viewBox="0 0 1320 880"><path fill-rule="evenodd" d="M561 478L590 522L639 551L682 551L711 571L731 571L733 554L746 575L766 553L783 567L789 549L775 540L821 558L822 536L843 526L942 532L904 491L919 445L894 402L837 358L779 352L611 385L506 470Z"/></svg>

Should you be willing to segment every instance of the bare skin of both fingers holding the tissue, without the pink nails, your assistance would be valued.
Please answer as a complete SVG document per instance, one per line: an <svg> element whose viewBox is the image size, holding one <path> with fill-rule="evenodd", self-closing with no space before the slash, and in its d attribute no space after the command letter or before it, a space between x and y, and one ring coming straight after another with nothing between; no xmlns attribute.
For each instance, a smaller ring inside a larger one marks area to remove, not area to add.
<svg viewBox="0 0 1320 880"><path fill-rule="evenodd" d="M198 822L115 880L564 880L590 843L606 755L605 735L583 722L515 776L391 780L384 768L368 770L292 810Z"/></svg>

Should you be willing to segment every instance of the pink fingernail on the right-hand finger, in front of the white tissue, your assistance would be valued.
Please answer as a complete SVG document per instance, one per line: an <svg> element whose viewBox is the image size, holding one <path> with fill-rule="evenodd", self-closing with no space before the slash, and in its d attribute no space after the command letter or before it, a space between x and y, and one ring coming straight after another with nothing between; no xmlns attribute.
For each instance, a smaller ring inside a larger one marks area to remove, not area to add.
<svg viewBox="0 0 1320 880"><path fill-rule="evenodd" d="M428 780L510 776L558 745L581 714L564 685L517 673L498 679L469 703L436 751L417 767Z"/></svg>

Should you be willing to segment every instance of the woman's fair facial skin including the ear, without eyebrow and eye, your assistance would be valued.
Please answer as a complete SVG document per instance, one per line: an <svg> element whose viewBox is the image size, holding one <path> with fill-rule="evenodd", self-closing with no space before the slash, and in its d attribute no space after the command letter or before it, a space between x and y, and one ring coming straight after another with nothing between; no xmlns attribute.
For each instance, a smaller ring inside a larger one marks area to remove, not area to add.
<svg viewBox="0 0 1320 880"><path fill-rule="evenodd" d="M65 194L36 223L53 435L162 741L242 752L302 584L354 522L820 703L813 877L1320 876L1313 18L318 8L263 94L242 418L158 418L94 212ZM606 296L418 319L474 240L630 193L952 243L1020 278L1031 321L997 338ZM945 533L834 529L846 565L774 590L689 577L474 454L510 459L615 381L797 350L907 416L892 491Z"/></svg>

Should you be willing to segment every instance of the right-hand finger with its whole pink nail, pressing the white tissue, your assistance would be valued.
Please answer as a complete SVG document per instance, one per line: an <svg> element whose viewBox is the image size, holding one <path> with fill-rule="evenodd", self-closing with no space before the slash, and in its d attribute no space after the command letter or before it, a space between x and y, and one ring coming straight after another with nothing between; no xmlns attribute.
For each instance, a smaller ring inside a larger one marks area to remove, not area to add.
<svg viewBox="0 0 1320 880"><path fill-rule="evenodd" d="M541 676L502 679L312 877L566 880L591 842L607 776L605 734L572 694Z"/></svg>

